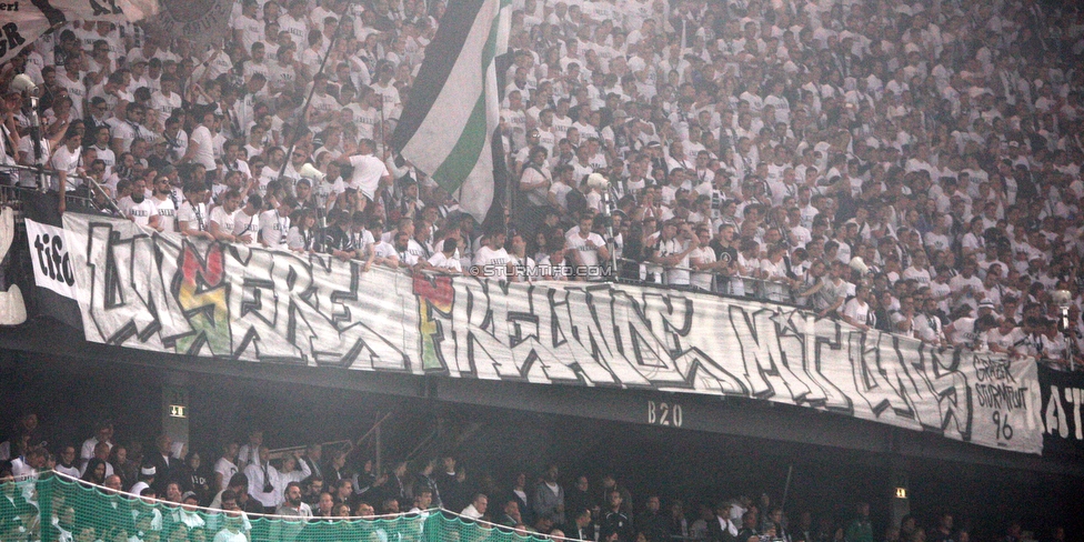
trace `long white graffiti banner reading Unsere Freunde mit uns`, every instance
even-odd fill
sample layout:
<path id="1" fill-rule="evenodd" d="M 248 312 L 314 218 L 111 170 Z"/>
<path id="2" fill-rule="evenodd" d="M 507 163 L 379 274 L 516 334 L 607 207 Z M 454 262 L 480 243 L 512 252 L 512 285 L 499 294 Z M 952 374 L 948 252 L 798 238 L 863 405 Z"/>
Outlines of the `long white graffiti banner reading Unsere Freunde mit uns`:
<path id="1" fill-rule="evenodd" d="M 87 340 L 254 362 L 736 395 L 1041 453 L 1033 360 L 651 288 L 409 277 L 64 214 Z M 153 234 L 152 234 L 153 233 Z"/>

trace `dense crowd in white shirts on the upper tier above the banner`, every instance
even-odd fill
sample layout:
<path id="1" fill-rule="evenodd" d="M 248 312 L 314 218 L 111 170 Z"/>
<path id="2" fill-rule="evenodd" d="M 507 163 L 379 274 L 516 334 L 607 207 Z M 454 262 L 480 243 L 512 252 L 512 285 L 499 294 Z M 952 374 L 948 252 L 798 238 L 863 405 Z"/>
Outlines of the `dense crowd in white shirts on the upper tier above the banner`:
<path id="1" fill-rule="evenodd" d="M 440 1 L 243 0 L 209 46 L 71 22 L 0 69 L 0 90 L 24 74 L 40 94 L 31 111 L 3 92 L 0 164 L 48 165 L 53 190 L 160 232 L 367 269 L 610 275 L 1084 361 L 1077 4 L 513 9 L 503 228 L 388 143 Z"/>

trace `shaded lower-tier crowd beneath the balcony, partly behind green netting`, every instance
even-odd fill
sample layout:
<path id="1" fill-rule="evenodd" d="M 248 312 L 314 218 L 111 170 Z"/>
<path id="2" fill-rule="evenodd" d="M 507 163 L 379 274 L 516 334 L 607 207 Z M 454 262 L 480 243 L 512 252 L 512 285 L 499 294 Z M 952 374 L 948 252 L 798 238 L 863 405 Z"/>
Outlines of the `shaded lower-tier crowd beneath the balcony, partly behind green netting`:
<path id="1" fill-rule="evenodd" d="M 944 513 L 935 524 L 904 516 L 874 533 L 870 506 L 861 502 L 853 515 L 790 510 L 789 516 L 767 494 L 697 501 L 633 495 L 620 483 L 621 473 L 608 472 L 601 480 L 565 476 L 556 464 L 536 475 L 518 472 L 500 483 L 484 471 L 469 476 L 452 453 L 392 461 L 381 470 L 349 442 L 328 449 L 311 444 L 271 459 L 261 431 L 252 431 L 244 443 L 225 443 L 215 458 L 201 456 L 167 435 L 145 449 L 140 440 L 122 444 L 109 420 L 99 422 L 82 443 L 49 446 L 44 440 L 37 415 L 28 413 L 0 444 L 4 541 L 456 540 L 452 533 L 421 536 L 435 529 L 423 525 L 435 509 L 521 535 L 593 542 L 968 542 L 972 531 L 967 521 L 954 525 L 952 514 Z M 87 499 L 89 493 L 53 492 L 51 520 L 34 523 L 41 502 L 33 481 L 53 472 L 107 494 L 123 492 L 124 498 L 102 504 Z M 8 483 L 17 480 L 21 484 Z M 259 522 L 261 514 L 308 526 Z M 339 520 L 378 518 L 392 521 L 379 529 L 328 529 Z M 1035 540 L 1018 522 L 1004 524 L 1006 534 L 991 541 Z M 1042 542 L 1066 540 L 1057 526 L 1038 535 Z"/>

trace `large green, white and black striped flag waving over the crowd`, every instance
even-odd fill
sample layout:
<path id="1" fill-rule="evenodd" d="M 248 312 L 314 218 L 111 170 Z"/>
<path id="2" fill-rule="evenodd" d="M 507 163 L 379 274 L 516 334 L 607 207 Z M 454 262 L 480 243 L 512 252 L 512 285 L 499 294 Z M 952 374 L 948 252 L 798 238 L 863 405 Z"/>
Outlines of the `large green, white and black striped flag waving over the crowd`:
<path id="1" fill-rule="evenodd" d="M 508 50 L 510 23 L 511 0 L 449 2 L 392 137 L 403 159 L 479 222 L 493 202 L 501 114 L 494 60 Z"/>

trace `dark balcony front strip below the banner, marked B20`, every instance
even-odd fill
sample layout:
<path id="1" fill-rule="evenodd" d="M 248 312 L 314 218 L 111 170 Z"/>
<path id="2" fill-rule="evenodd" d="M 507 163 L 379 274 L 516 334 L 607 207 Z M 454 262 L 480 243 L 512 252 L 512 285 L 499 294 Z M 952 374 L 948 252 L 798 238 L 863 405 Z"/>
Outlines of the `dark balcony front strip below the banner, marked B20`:
<path id="1" fill-rule="evenodd" d="M 646 390 L 619 390 L 491 382 L 441 377 L 394 375 L 335 368 L 309 368 L 163 355 L 88 343 L 50 331 L 60 325 L 24 324 L 0 330 L 0 349 L 32 359 L 68 358 L 79 364 L 121 363 L 162 371 L 222 375 L 268 382 L 352 390 L 384 397 L 421 398 L 448 403 L 628 422 L 739 438 L 765 436 L 781 442 L 817 445 L 906 458 L 955 461 L 1022 471 L 1084 478 L 1075 459 L 1004 452 L 842 415 L 765 401 L 720 399 Z"/>

